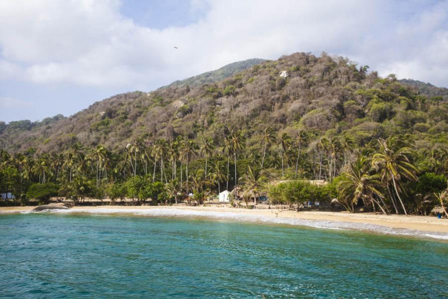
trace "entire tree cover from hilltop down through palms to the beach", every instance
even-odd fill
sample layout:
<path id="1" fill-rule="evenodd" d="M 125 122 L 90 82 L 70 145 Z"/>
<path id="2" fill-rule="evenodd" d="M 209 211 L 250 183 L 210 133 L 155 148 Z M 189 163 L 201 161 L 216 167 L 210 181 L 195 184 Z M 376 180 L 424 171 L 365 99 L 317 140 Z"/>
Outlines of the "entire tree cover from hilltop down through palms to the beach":
<path id="1" fill-rule="evenodd" d="M 325 53 L 207 80 L 117 95 L 69 118 L 2 124 L 1 193 L 23 204 L 55 193 L 201 204 L 235 189 L 253 204 L 267 192 L 271 204 L 297 209 L 446 208 L 444 90 L 425 94 Z"/>

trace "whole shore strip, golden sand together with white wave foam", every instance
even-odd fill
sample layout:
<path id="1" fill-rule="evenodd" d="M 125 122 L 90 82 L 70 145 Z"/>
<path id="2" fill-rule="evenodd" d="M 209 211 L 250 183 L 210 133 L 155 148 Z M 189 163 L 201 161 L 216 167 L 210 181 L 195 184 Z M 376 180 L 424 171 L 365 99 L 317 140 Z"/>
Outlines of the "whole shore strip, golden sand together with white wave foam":
<path id="1" fill-rule="evenodd" d="M 0 207 L 0 215 L 27 213 L 34 206 Z M 420 235 L 448 240 L 448 220 L 430 216 L 379 215 L 325 211 L 292 211 L 195 206 L 75 206 L 54 213 L 118 214 L 135 216 L 205 217 L 248 222 L 302 225 L 327 229 L 351 229 L 393 235 Z"/>

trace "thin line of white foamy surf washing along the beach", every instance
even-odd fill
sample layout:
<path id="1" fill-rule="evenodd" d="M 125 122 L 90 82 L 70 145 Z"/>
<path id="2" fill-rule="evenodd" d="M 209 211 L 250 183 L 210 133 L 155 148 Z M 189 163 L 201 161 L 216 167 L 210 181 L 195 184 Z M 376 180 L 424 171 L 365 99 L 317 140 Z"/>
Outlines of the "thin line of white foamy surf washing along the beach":
<path id="1" fill-rule="evenodd" d="M 370 231 L 380 234 L 402 235 L 402 236 L 418 236 L 429 237 L 434 239 L 448 240 L 448 233 L 428 232 L 406 228 L 391 228 L 378 224 L 368 224 L 348 221 L 334 220 L 311 220 L 291 217 L 268 217 L 262 215 L 251 215 L 249 213 L 234 212 L 218 212 L 218 211 L 200 211 L 176 208 L 152 208 L 152 209 L 111 209 L 111 208 L 94 208 L 94 209 L 70 209 L 70 210 L 49 210 L 51 213 L 71 214 L 71 213 L 89 213 L 89 214 L 133 214 L 136 216 L 168 216 L 168 217 L 207 217 L 213 219 L 225 219 L 245 222 L 262 222 L 300 225 L 314 228 L 334 229 L 334 230 L 360 230 Z"/>

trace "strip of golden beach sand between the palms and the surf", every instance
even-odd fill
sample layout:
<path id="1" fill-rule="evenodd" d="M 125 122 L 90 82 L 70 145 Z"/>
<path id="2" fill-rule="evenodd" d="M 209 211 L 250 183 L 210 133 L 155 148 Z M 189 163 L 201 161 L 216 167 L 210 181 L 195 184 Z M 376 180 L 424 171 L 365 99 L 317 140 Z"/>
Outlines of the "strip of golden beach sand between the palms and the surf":
<path id="1" fill-rule="evenodd" d="M 0 214 L 31 211 L 33 206 L 0 207 Z M 430 216 L 378 215 L 374 213 L 341 213 L 324 211 L 292 211 L 271 209 L 243 209 L 230 207 L 192 206 L 75 206 L 70 213 L 176 215 L 231 218 L 236 220 L 265 219 L 271 222 L 288 223 L 294 220 L 328 221 L 351 224 L 383 226 L 391 229 L 418 230 L 422 232 L 448 233 L 448 219 Z M 356 229 L 360 226 L 354 226 Z"/>

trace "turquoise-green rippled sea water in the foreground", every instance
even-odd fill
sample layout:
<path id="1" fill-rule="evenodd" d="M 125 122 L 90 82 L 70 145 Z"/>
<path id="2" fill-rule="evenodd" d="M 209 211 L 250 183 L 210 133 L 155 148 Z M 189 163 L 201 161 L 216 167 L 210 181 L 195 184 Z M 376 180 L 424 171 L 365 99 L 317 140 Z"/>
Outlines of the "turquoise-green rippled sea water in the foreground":
<path id="1" fill-rule="evenodd" d="M 4 298 L 448 298 L 448 243 L 194 217 L 0 215 Z"/>

